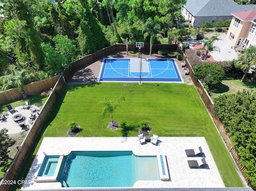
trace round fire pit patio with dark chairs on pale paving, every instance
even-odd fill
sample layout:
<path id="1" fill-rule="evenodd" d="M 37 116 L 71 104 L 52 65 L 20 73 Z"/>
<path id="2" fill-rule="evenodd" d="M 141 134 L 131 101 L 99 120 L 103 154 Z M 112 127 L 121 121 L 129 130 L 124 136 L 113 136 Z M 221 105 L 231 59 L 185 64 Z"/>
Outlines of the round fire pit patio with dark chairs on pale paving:
<path id="1" fill-rule="evenodd" d="M 8 129 L 7 134 L 16 134 L 24 130 L 30 130 L 36 120 L 40 109 L 25 101 L 24 105 L 16 106 L 12 108 L 11 105 L 7 105 L 7 111 L 2 112 L 0 115 L 0 130 L 3 128 Z M 32 108 L 32 110 L 30 110 Z"/>

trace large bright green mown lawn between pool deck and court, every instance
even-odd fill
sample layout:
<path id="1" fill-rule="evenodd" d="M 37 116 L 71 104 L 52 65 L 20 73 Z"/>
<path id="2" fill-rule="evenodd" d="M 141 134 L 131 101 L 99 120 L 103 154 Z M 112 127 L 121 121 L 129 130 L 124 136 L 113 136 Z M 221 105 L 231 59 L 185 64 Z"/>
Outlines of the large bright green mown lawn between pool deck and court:
<path id="1" fill-rule="evenodd" d="M 125 129 L 106 128 L 110 115 L 101 115 L 98 102 L 123 95 L 126 100 L 113 112 L 114 120 L 126 122 Z M 46 120 L 19 179 L 24 179 L 43 137 L 66 136 L 67 124 L 81 126 L 78 136 L 137 136 L 138 123 L 146 122 L 159 136 L 203 136 L 210 147 L 226 187 L 243 187 L 230 154 L 226 150 L 196 88 L 191 85 L 159 83 L 97 83 L 66 86 Z M 34 151 L 34 152 L 33 152 Z"/>

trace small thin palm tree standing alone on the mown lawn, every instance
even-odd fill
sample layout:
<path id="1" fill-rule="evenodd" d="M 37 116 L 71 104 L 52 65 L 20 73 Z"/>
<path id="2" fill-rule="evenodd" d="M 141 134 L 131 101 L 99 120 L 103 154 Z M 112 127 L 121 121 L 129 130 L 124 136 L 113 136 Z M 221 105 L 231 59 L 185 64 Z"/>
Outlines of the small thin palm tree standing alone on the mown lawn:
<path id="1" fill-rule="evenodd" d="M 120 95 L 120 96 L 116 96 L 116 99 L 114 100 L 107 100 L 106 98 L 104 98 L 104 100 L 99 102 L 99 104 L 103 104 L 102 115 L 104 115 L 106 112 L 110 113 L 112 124 L 113 124 L 112 112 L 114 112 L 114 110 L 122 100 L 125 100 L 125 98 L 124 96 Z"/>

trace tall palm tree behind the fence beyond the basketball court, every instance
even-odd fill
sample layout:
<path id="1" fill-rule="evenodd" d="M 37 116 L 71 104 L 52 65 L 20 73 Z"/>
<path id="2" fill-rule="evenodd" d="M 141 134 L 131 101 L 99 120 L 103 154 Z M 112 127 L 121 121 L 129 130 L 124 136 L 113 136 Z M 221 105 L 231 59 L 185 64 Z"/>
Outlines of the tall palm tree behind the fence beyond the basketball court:
<path id="1" fill-rule="evenodd" d="M 157 33 L 161 30 L 160 24 L 156 24 L 152 18 L 148 18 L 147 22 L 145 23 L 144 30 L 144 39 L 150 36 L 150 51 L 149 55 L 152 54 L 152 46 L 154 44 L 154 39 L 156 38 Z"/>

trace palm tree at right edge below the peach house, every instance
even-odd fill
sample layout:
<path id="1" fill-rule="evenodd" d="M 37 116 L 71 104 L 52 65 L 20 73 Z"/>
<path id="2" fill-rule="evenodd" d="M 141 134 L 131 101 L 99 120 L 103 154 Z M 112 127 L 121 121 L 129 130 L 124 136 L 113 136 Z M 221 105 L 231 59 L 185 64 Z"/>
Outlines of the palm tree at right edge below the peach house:
<path id="1" fill-rule="evenodd" d="M 238 59 L 235 61 L 235 67 L 240 68 L 244 71 L 244 76 L 242 77 L 242 82 L 244 81 L 246 74 L 248 73 L 251 66 L 256 65 L 256 47 L 250 46 L 244 49 L 238 55 Z M 256 75 L 254 75 L 253 81 L 255 81 Z"/>

